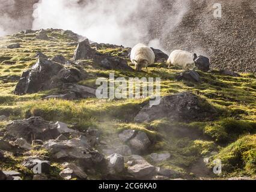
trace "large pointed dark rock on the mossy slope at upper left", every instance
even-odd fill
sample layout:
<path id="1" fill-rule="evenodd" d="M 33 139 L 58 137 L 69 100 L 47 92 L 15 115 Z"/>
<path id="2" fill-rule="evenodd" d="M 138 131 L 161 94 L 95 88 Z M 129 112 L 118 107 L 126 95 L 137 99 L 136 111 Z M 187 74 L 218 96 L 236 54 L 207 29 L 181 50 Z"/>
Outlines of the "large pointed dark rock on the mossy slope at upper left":
<path id="1" fill-rule="evenodd" d="M 79 68 L 65 68 L 56 62 L 39 58 L 28 71 L 23 72 L 16 85 L 17 95 L 32 94 L 38 91 L 58 88 L 64 83 L 79 82 L 86 77 L 85 71 Z"/>

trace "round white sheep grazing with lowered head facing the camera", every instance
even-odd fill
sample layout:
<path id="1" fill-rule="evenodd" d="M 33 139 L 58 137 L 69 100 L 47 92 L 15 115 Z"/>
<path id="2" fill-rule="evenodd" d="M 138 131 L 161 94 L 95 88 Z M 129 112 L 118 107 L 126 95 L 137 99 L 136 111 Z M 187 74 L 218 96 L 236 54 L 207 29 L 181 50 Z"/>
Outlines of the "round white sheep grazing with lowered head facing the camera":
<path id="1" fill-rule="evenodd" d="M 136 44 L 130 53 L 130 61 L 135 65 L 137 71 L 141 71 L 144 67 L 148 71 L 148 65 L 154 64 L 154 58 L 153 50 L 142 43 Z"/>

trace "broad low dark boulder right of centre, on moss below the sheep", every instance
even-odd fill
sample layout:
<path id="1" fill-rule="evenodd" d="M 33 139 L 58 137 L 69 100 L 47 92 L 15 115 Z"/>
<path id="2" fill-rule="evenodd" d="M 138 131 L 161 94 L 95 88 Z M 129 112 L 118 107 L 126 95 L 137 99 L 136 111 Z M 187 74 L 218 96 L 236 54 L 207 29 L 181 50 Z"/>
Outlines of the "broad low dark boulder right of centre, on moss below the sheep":
<path id="1" fill-rule="evenodd" d="M 151 122 L 167 118 L 170 121 L 204 121 L 213 119 L 216 109 L 203 98 L 190 92 L 162 97 L 157 106 L 146 105 L 135 117 L 136 122 Z"/>

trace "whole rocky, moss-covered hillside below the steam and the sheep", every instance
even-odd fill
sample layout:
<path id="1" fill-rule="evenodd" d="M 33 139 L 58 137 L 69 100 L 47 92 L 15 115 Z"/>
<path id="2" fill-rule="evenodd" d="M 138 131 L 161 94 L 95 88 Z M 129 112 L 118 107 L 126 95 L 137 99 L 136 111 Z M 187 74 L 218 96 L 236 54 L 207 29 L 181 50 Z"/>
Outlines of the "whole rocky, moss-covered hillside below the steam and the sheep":
<path id="1" fill-rule="evenodd" d="M 83 42 L 88 58 L 79 59 L 77 51 L 73 61 L 78 37 L 70 31 L 0 38 L 2 170 L 22 179 L 255 178 L 255 74 L 223 74 L 213 64 L 207 73 L 197 70 L 200 82 L 177 81 L 182 71 L 165 62 L 156 62 L 148 74 L 136 72 L 129 48 Z M 111 72 L 161 77 L 162 103 L 150 109 L 149 98 L 94 98 L 96 79 Z M 222 161 L 220 175 L 212 172 L 216 159 Z M 44 161 L 43 175 L 32 172 L 35 160 Z"/>

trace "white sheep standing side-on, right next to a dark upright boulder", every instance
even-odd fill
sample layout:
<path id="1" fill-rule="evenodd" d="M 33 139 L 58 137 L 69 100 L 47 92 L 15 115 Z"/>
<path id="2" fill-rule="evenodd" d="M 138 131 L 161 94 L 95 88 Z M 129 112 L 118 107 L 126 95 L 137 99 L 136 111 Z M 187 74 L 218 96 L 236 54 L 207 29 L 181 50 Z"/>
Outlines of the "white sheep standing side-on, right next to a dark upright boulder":
<path id="1" fill-rule="evenodd" d="M 184 50 L 174 50 L 167 60 L 168 68 L 170 65 L 182 67 L 183 70 L 193 70 L 195 68 L 197 54 L 189 53 Z"/>

